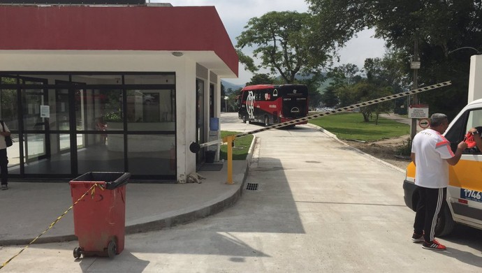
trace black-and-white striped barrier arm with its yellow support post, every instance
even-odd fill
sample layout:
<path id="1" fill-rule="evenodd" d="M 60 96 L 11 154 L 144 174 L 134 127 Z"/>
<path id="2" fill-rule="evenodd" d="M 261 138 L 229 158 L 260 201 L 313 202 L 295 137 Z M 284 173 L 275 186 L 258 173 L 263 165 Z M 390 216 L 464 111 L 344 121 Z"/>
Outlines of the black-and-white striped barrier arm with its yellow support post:
<path id="1" fill-rule="evenodd" d="M 440 82 L 440 83 L 437 83 L 437 84 L 429 85 L 427 87 L 421 87 L 421 88 L 418 88 L 418 89 L 413 89 L 413 90 L 404 91 L 404 92 L 401 92 L 401 93 L 398 93 L 398 94 L 393 94 L 393 95 L 390 95 L 390 96 L 384 96 L 384 97 L 381 97 L 381 98 L 376 98 L 372 101 L 365 101 L 363 103 L 356 103 L 356 104 L 345 106 L 345 107 L 342 107 L 342 108 L 337 108 L 335 110 L 331 110 L 331 111 L 328 111 L 328 112 L 321 112 L 319 114 L 309 115 L 307 117 L 302 117 L 300 119 L 293 119 L 291 121 L 286 121 L 286 122 L 283 122 L 283 123 L 280 123 L 280 124 L 270 125 L 270 126 L 267 126 L 267 127 L 264 127 L 264 128 L 259 128 L 259 129 L 254 130 L 254 131 L 249 131 L 249 132 L 246 132 L 246 133 L 240 133 L 238 135 L 228 135 L 228 136 L 224 137 L 222 140 L 213 140 L 213 141 L 205 142 L 205 143 L 202 143 L 202 144 L 192 142 L 191 145 L 189 146 L 189 149 L 191 150 L 191 152 L 197 153 L 197 152 L 199 152 L 200 148 L 207 147 L 207 146 L 210 146 L 210 145 L 215 145 L 215 144 L 218 144 L 218 143 L 228 142 L 228 181 L 226 182 L 226 184 L 234 184 L 233 183 L 233 158 L 232 158 L 233 147 L 232 147 L 232 145 L 233 145 L 233 141 L 236 138 L 242 138 L 242 137 L 245 137 L 247 135 L 252 135 L 254 133 L 260 133 L 260 132 L 268 131 L 268 130 L 275 129 L 275 128 L 282 128 L 284 126 L 295 125 L 295 124 L 298 124 L 302 121 L 309 121 L 311 119 L 317 119 L 319 117 L 333 115 L 333 114 L 336 114 L 336 113 L 339 113 L 339 112 L 346 112 L 346 111 L 353 110 L 355 108 L 365 107 L 365 106 L 377 104 L 377 103 L 383 103 L 385 101 L 391 101 L 391 100 L 394 100 L 395 98 L 402 98 L 404 96 L 410 96 L 410 95 L 418 94 L 418 93 L 421 93 L 421 92 L 424 92 L 424 91 L 429 91 L 429 90 L 437 89 L 437 88 L 440 88 L 440 87 L 446 87 L 446 86 L 451 85 L 451 84 L 452 84 L 451 81 Z"/>

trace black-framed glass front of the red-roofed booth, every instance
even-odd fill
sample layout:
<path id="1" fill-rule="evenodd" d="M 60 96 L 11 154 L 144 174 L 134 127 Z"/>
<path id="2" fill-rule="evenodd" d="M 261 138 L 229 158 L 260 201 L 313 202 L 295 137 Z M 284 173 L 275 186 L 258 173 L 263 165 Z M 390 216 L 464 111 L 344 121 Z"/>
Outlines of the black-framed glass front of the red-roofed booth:
<path id="1" fill-rule="evenodd" d="M 175 73 L 0 73 L 10 177 L 176 179 Z"/>

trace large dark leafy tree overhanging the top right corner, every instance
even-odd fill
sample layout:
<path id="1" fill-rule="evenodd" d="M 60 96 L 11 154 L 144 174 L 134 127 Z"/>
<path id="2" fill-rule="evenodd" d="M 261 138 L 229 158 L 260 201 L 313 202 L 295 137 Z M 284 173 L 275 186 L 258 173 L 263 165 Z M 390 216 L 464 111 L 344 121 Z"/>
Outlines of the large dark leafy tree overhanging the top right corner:
<path id="1" fill-rule="evenodd" d="M 418 43 L 420 85 L 452 81 L 451 87 L 420 94 L 432 112 L 453 117 L 467 101 L 469 56 L 482 50 L 482 3 L 473 0 L 308 0 L 323 26 L 320 35 L 332 34 L 342 46 L 358 31 L 374 28 L 390 49 L 400 53 L 405 75 L 411 75 L 410 57 Z M 316 46 L 316 45 L 313 45 Z M 453 52 L 453 53 L 451 53 Z"/>

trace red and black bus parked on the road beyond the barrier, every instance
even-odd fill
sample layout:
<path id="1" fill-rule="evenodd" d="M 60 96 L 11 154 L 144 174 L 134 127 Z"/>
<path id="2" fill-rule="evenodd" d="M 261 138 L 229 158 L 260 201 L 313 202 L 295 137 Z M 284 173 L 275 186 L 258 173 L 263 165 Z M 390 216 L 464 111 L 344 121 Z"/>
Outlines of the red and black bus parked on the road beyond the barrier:
<path id="1" fill-rule="evenodd" d="M 304 84 L 250 85 L 241 90 L 238 103 L 243 122 L 279 124 L 308 115 L 308 88 Z"/>

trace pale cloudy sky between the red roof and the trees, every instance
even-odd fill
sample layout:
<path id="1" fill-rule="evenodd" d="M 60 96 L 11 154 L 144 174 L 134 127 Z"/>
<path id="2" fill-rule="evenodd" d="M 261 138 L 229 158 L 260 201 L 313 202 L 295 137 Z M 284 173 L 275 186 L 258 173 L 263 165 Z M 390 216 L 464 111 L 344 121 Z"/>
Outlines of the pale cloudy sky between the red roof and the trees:
<path id="1" fill-rule="evenodd" d="M 149 0 L 147 0 L 148 2 Z M 152 3 L 171 3 L 173 6 L 214 6 L 219 17 L 228 32 L 233 45 L 236 45 L 236 37 L 240 36 L 249 19 L 261 17 L 270 11 L 308 11 L 308 4 L 304 0 L 151 0 Z M 382 57 L 385 52 L 384 41 L 372 38 L 374 31 L 367 29 L 358 33 L 345 47 L 339 50 L 341 64 L 356 64 L 363 67 L 367 58 Z M 249 54 L 245 52 L 244 54 Z M 244 71 L 240 64 L 238 79 L 224 79 L 233 84 L 245 84 L 249 82 L 252 73 Z"/>

